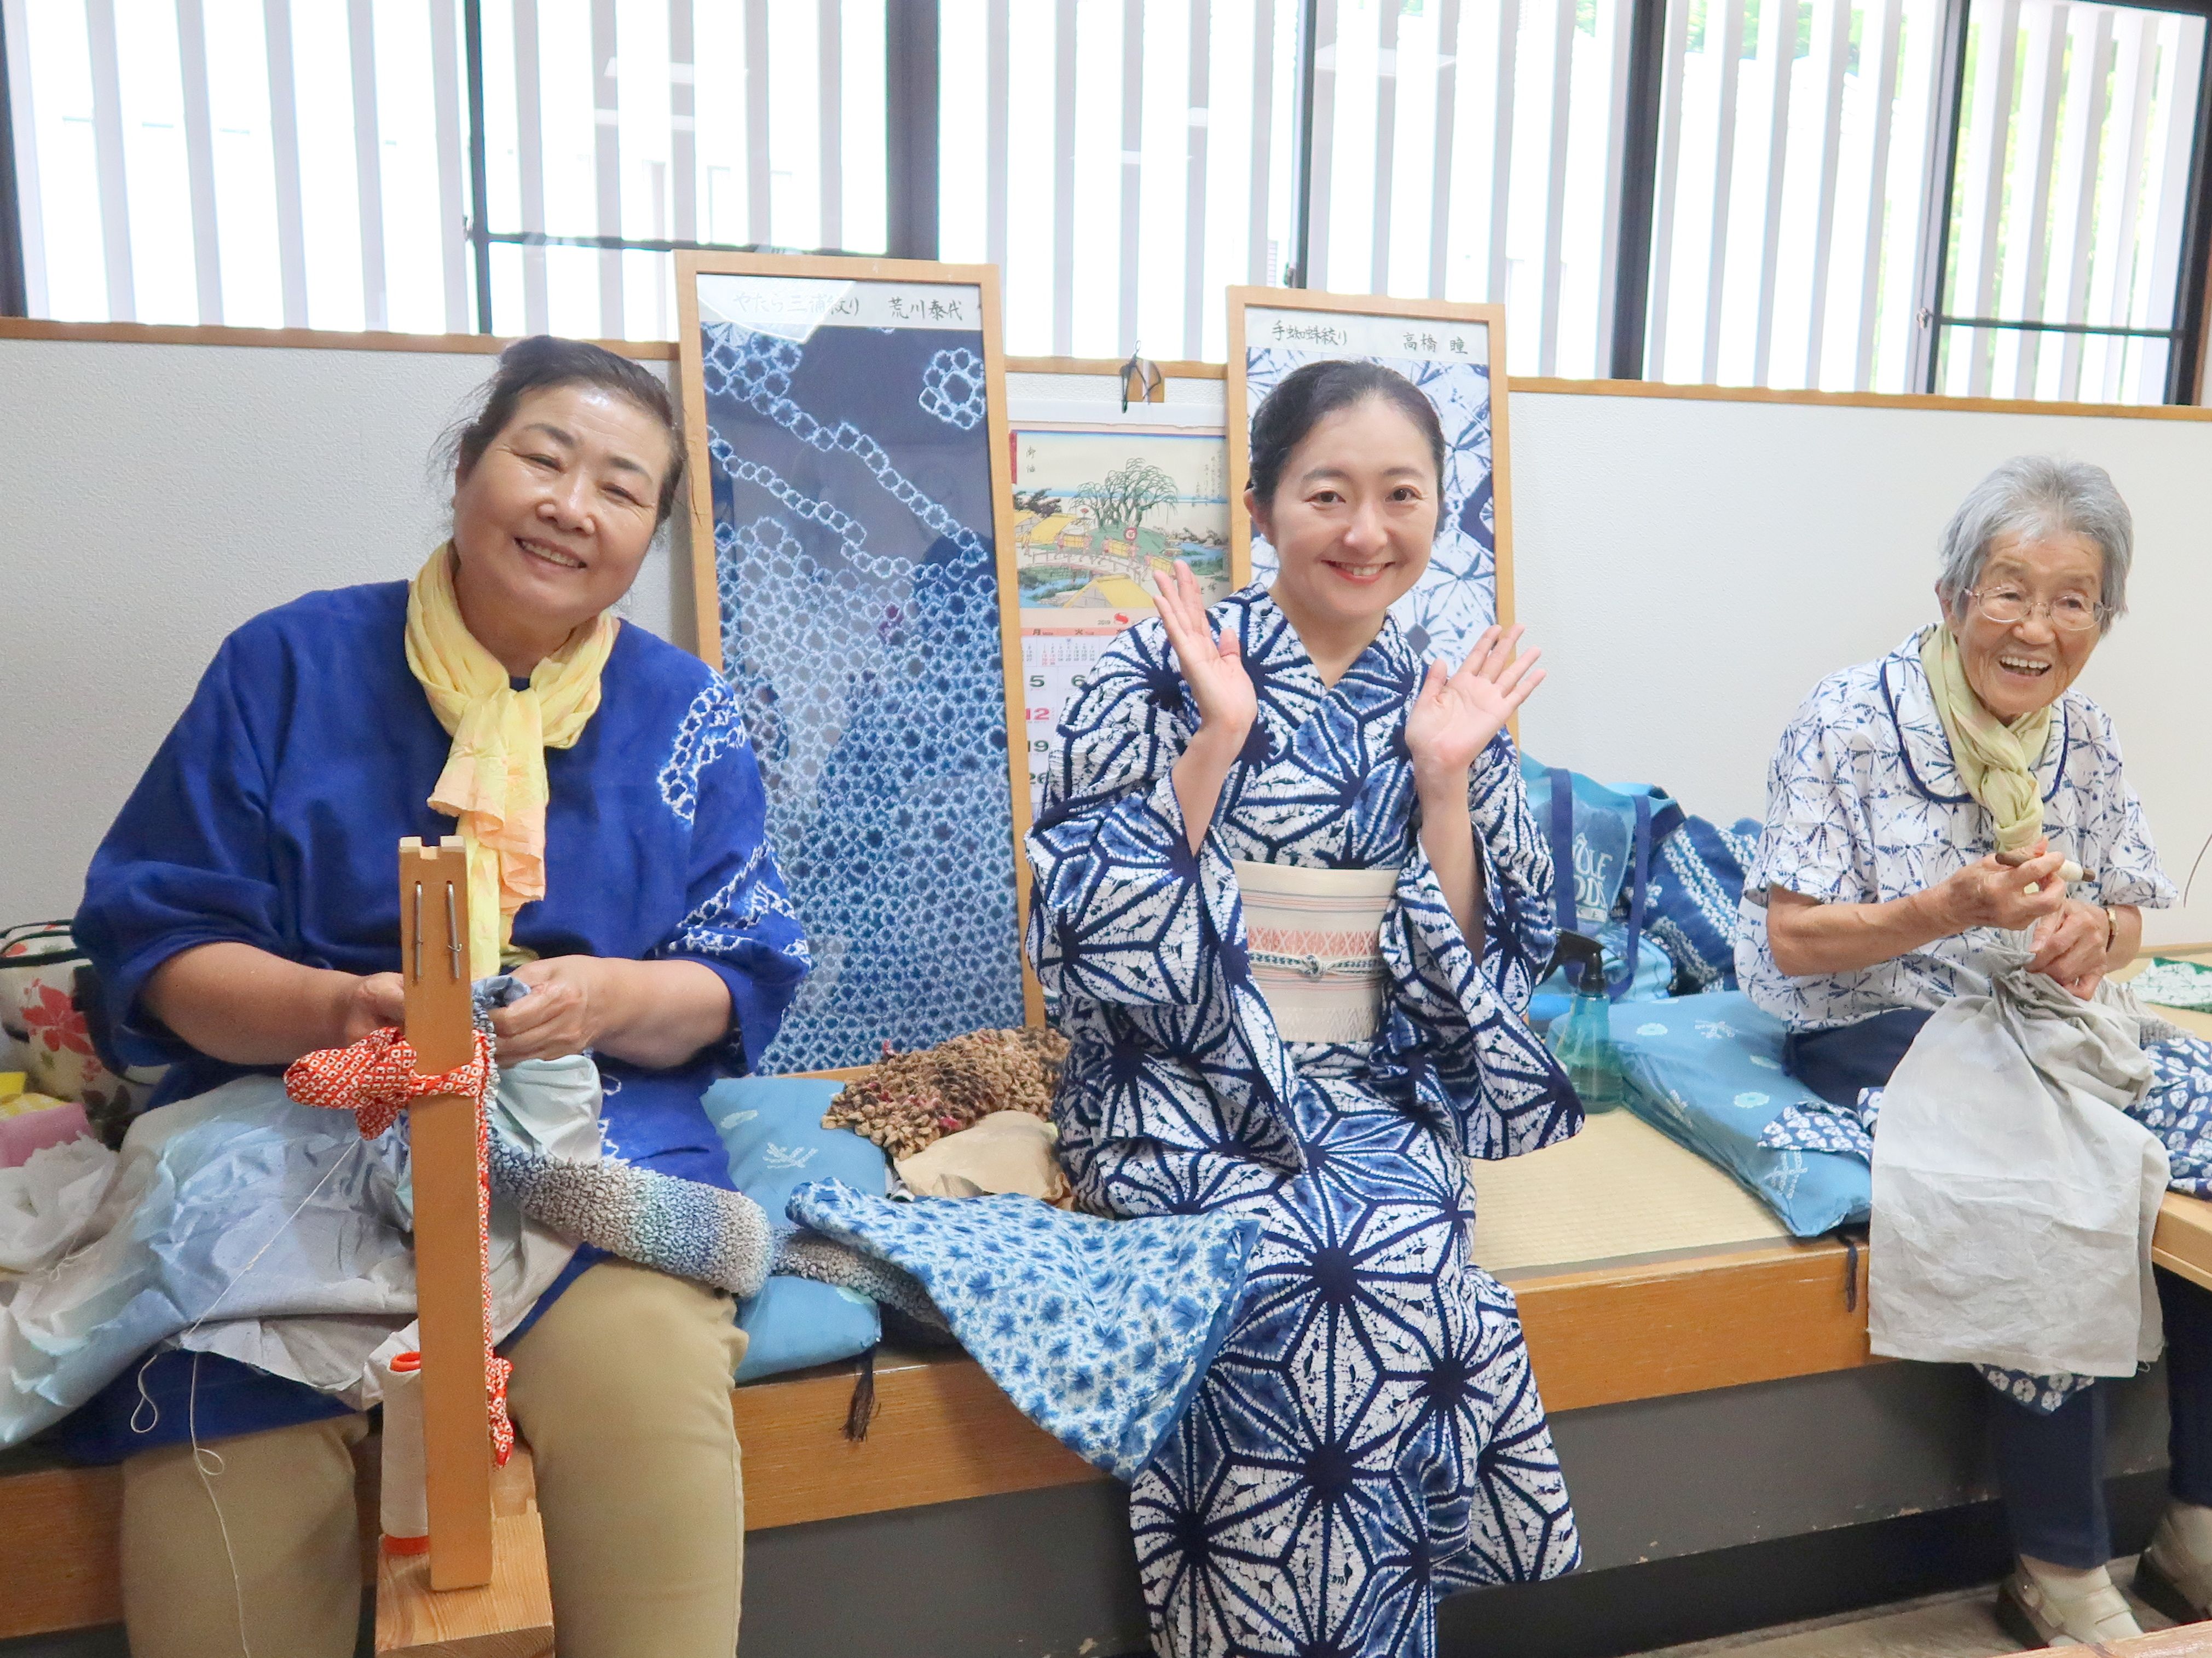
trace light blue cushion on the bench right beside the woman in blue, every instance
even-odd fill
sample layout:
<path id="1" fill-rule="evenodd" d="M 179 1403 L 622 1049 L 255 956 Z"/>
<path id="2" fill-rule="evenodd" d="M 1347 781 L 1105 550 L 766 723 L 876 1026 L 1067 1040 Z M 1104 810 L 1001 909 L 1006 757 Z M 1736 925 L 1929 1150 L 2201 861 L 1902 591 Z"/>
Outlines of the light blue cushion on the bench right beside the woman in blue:
<path id="1" fill-rule="evenodd" d="M 843 1180 L 874 1198 L 891 1189 L 883 1147 L 852 1129 L 825 1129 L 823 1111 L 843 1089 L 812 1076 L 739 1076 L 706 1091 L 706 1113 L 730 1153 L 730 1184 L 783 1222 L 792 1193 L 810 1180 Z M 867 1353 L 883 1339 L 883 1313 L 865 1295 L 774 1275 L 737 1304 L 752 1339 L 739 1381 Z"/>

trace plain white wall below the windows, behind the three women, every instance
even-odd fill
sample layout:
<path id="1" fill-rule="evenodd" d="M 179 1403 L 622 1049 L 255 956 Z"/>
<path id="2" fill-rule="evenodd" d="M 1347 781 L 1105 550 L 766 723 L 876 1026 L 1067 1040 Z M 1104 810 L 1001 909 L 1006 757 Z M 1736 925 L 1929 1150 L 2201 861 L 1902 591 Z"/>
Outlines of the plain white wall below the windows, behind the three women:
<path id="1" fill-rule="evenodd" d="M 442 533 L 427 454 L 489 367 L 0 341 L 0 919 L 75 908 L 228 629 L 416 569 Z M 1068 418 L 1108 390 L 1015 376 L 1011 412 Z M 1150 418 L 1219 421 L 1219 383 L 1170 392 Z M 1933 613 L 1936 536 L 1993 463 L 2059 449 L 2110 467 L 2137 514 L 2132 613 L 2084 686 L 2119 719 L 2177 881 L 2212 835 L 2194 673 L 2212 421 L 1515 392 L 1511 434 L 1517 613 L 1551 666 L 1526 746 L 1708 817 L 1759 815 L 1812 682 Z M 679 527 L 630 620 L 688 642 L 688 569 Z M 2150 936 L 2212 939 L 2212 870 L 2194 897 Z"/>

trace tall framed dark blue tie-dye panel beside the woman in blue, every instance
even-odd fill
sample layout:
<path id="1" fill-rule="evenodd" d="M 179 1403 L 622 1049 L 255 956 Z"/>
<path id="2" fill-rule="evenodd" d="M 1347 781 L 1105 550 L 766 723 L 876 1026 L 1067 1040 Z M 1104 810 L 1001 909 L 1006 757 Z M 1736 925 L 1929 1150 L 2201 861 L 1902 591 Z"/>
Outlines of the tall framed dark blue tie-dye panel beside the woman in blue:
<path id="1" fill-rule="evenodd" d="M 998 272 L 677 255 L 699 655 L 814 952 L 763 1071 L 1042 1018 Z"/>

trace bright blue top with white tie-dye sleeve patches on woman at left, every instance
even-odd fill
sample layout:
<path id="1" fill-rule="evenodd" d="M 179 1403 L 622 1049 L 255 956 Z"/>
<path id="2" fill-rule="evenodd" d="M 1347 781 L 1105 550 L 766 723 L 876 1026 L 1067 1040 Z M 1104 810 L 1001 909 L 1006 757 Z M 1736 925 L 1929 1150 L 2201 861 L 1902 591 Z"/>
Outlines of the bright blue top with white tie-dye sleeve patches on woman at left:
<path id="1" fill-rule="evenodd" d="M 451 739 L 407 669 L 407 584 L 310 593 L 223 640 L 93 857 L 77 939 L 155 1102 L 239 1074 L 139 1005 L 170 956 L 215 941 L 352 974 L 394 972 L 398 841 L 453 832 L 429 808 Z M 712 669 L 624 626 L 599 711 L 546 750 L 546 897 L 515 916 L 538 956 L 684 958 L 730 987 L 723 1043 L 670 1071 L 602 1060 L 608 1147 L 728 1189 L 699 1096 L 774 1036 L 807 947 L 765 839 L 761 773 Z"/>

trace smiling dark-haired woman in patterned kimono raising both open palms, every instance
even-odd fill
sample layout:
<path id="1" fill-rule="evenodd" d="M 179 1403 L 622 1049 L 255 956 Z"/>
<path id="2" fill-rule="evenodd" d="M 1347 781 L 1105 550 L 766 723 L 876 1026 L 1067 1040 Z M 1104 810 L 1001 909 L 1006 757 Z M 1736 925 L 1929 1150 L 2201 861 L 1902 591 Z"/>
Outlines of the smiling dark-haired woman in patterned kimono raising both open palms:
<path id="1" fill-rule="evenodd" d="M 1464 1158 L 1582 1107 L 1522 1020 L 1551 859 L 1504 735 L 1520 629 L 1453 673 L 1389 618 L 1442 432 L 1402 376 L 1290 374 L 1252 423 L 1274 584 L 1179 567 L 1060 728 L 1031 954 L 1073 1040 L 1084 1204 L 1261 1222 L 1237 1322 L 1130 1525 L 1164 1654 L 1429 1654 L 1447 1589 L 1579 1558 Z"/>

